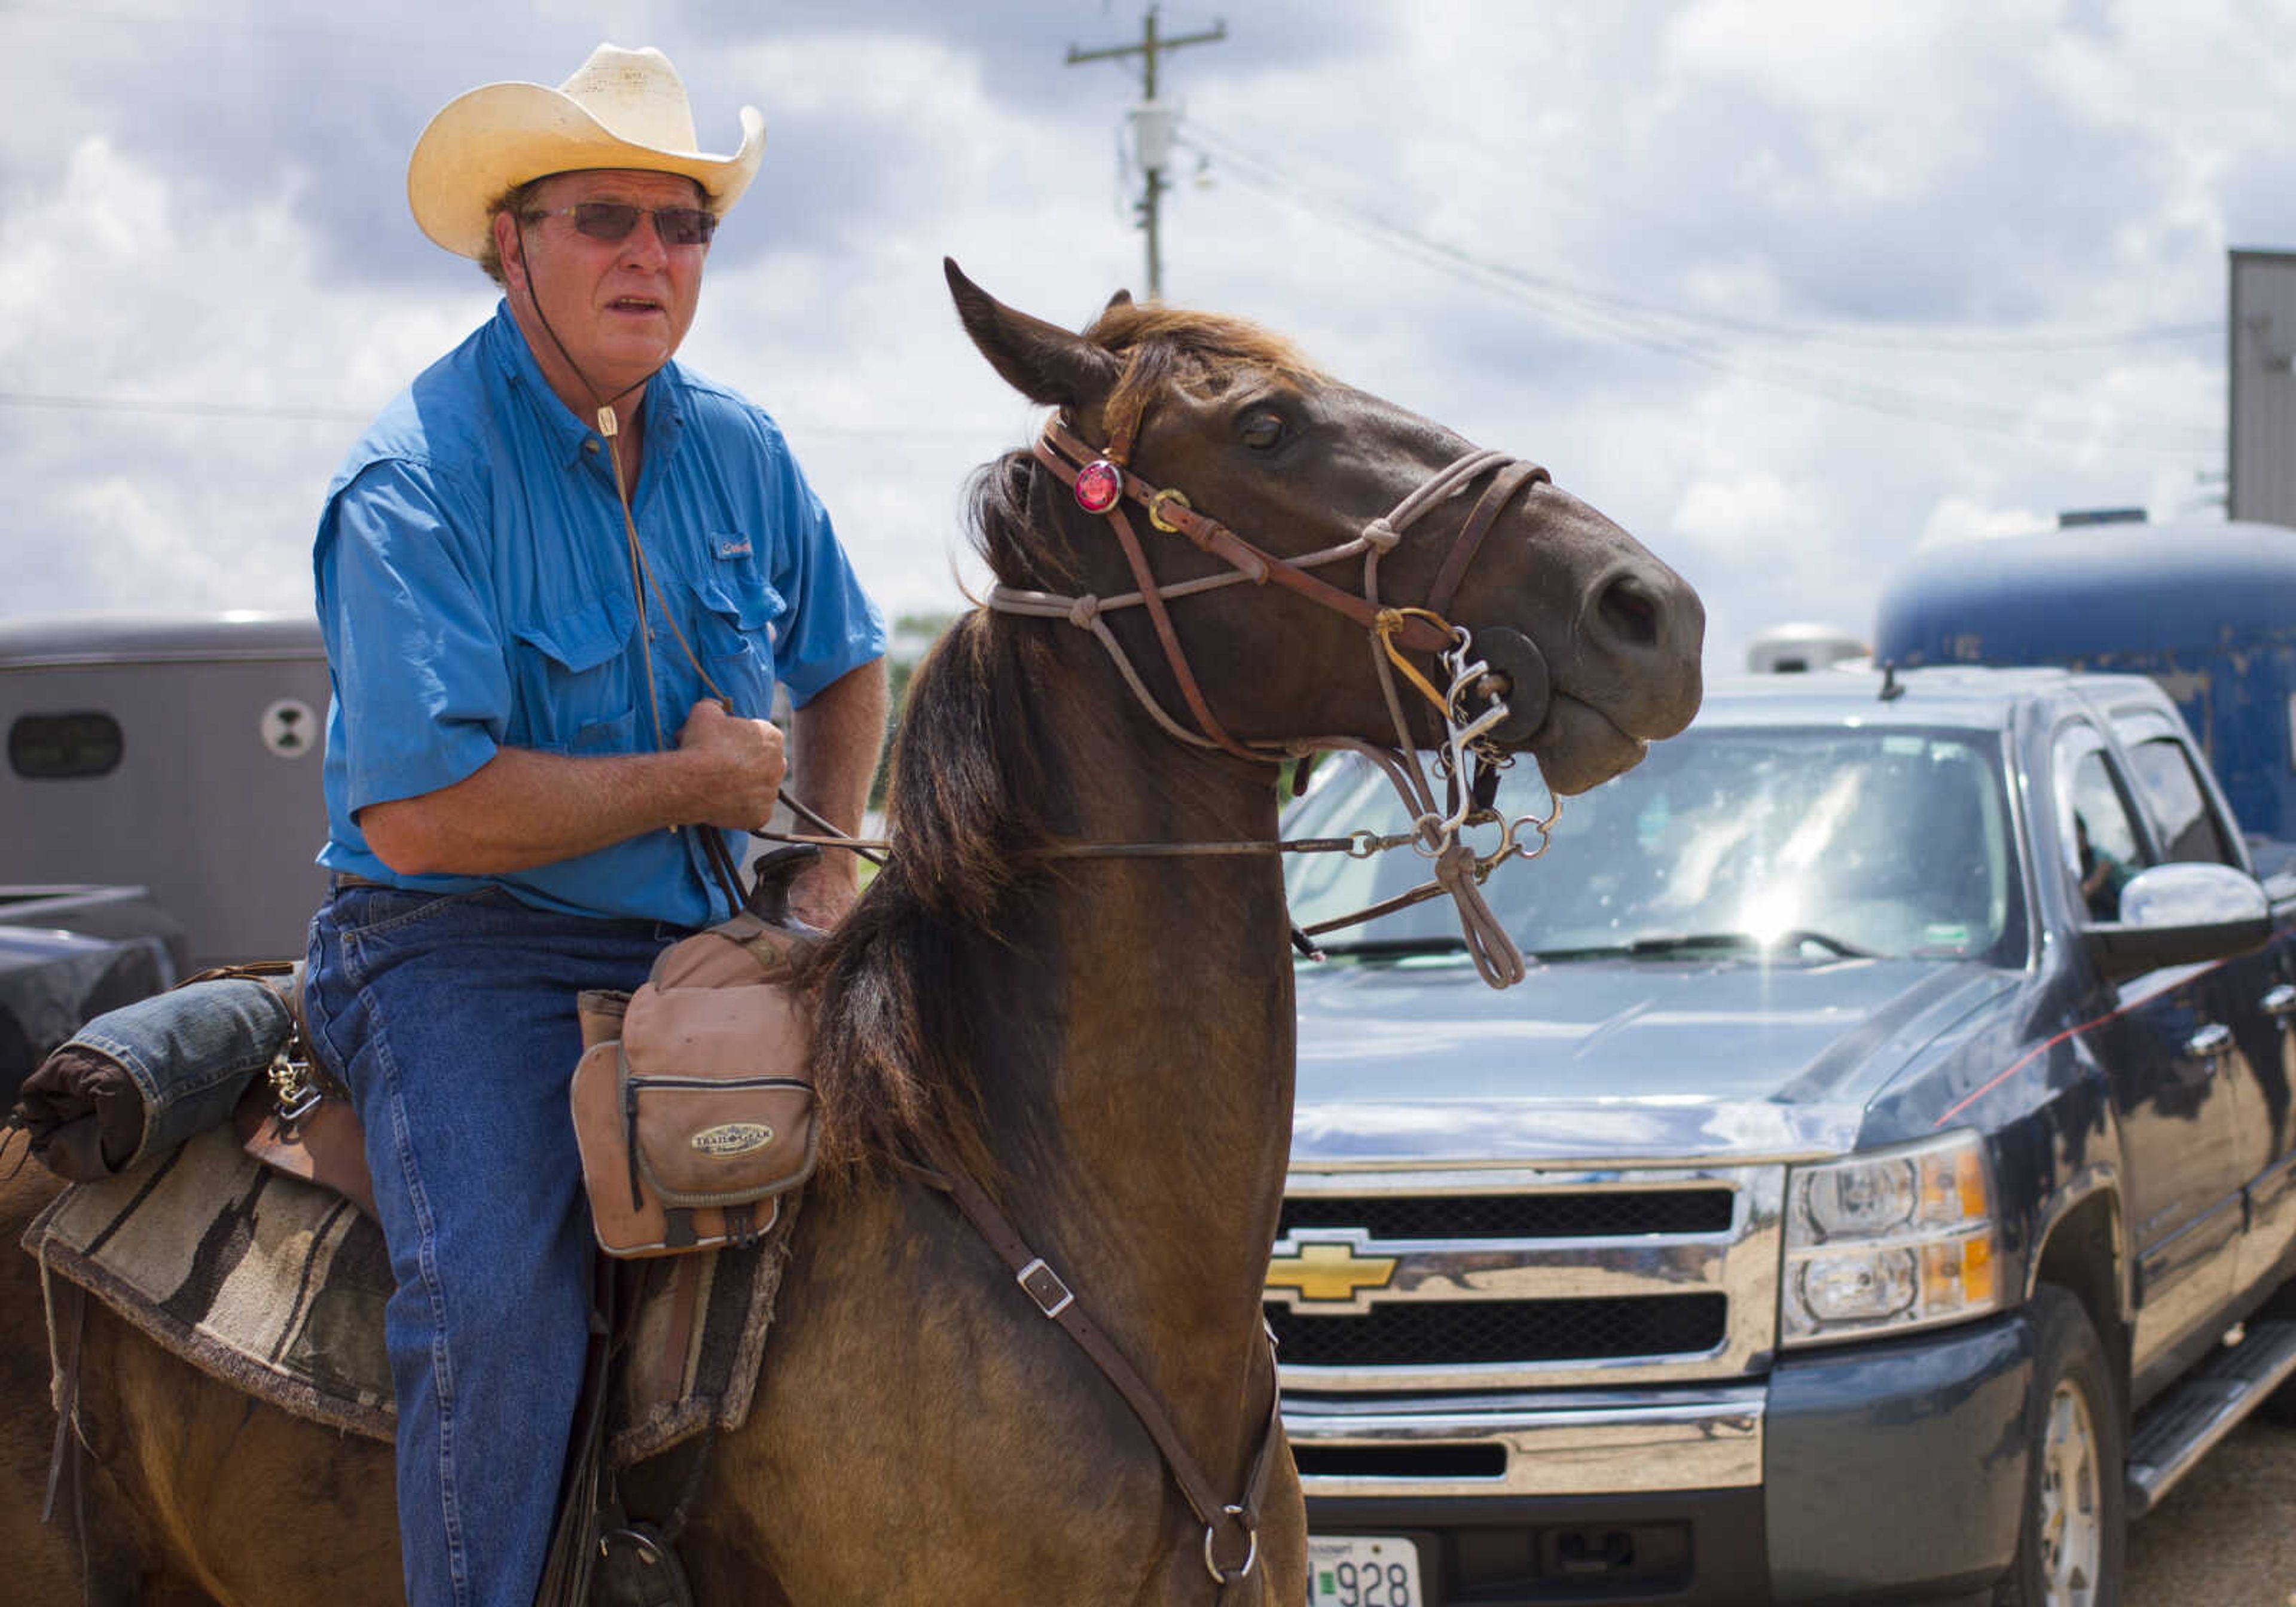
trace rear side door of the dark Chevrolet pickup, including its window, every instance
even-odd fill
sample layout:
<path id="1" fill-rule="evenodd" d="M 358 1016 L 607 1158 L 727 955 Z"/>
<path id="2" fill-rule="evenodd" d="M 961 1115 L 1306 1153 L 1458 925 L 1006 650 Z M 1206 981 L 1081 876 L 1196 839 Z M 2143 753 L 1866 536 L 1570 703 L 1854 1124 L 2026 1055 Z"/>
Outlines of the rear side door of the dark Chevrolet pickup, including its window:
<path id="1" fill-rule="evenodd" d="M 2206 771 L 2161 714 L 2115 721 L 2138 799 L 2151 817 L 2163 861 L 2204 861 L 2248 870 L 2239 838 L 2209 797 Z M 2234 1113 L 2232 1166 L 2248 1194 L 2236 1288 L 2250 1288 L 2296 1242 L 2296 1123 L 2289 1061 L 2296 1056 L 2296 955 L 2282 925 L 2271 948 L 2236 955 L 2193 983 L 2193 999 L 2218 1054 L 2218 1081 Z"/>

